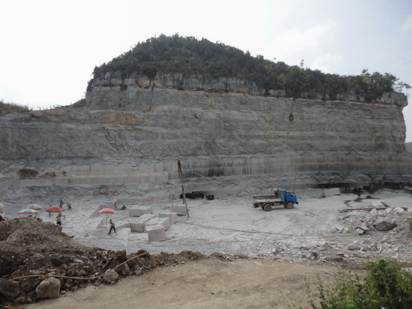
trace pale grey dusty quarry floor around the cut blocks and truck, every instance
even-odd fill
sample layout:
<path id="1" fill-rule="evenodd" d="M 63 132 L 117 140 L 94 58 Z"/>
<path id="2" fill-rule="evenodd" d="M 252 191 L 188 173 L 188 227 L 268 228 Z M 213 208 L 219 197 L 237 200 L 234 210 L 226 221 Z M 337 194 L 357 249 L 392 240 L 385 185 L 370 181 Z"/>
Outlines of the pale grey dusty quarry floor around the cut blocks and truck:
<path id="1" fill-rule="evenodd" d="M 374 201 L 382 201 L 389 207 L 407 207 L 412 211 L 412 195 L 404 190 L 383 189 L 374 194 L 339 194 L 322 197 L 323 190 L 297 192 L 299 205 L 293 209 L 279 207 L 271 211 L 253 208 L 253 196 L 216 196 L 215 200 L 188 200 L 189 216 L 178 216 L 178 220 L 166 231 L 166 241 L 148 242 L 147 233 L 130 233 L 117 229 L 108 235 L 108 220 L 119 223 L 128 218 L 128 211 L 117 214 L 94 214 L 104 203 L 114 203 L 112 196 L 73 196 L 65 198 L 73 209 L 63 212 L 62 231 L 88 247 L 99 247 L 113 251 L 126 250 L 128 254 L 146 250 L 151 254 L 165 251 L 199 251 L 206 255 L 226 253 L 246 255 L 252 258 L 271 258 L 287 262 L 321 262 L 345 260 L 363 262 L 382 256 L 399 262 L 412 262 L 411 234 L 403 231 L 404 222 L 390 231 L 368 231 L 365 235 L 356 232 L 356 219 L 366 216 L 367 211 L 352 211 L 351 220 L 341 220 L 348 214 L 339 209 L 371 207 Z M 38 203 L 43 201 L 26 201 Z M 21 202 L 23 203 L 23 202 Z M 21 203 L 19 203 L 21 205 Z M 172 205 L 182 200 L 164 203 L 149 203 L 154 214 L 170 211 Z M 6 207 L 8 218 L 25 206 Z M 136 206 L 136 205 L 135 205 Z M 132 207 L 132 205 L 126 205 Z M 407 216 L 411 216 L 407 212 Z M 56 214 L 38 213 L 44 222 L 56 222 Z M 396 216 L 395 216 L 396 217 Z M 403 216 L 406 217 L 406 216 Z M 103 223 L 100 227 L 99 224 Z M 352 225 L 350 224 L 352 223 Z M 375 249 L 349 250 L 354 242 L 374 242 Z M 377 249 L 376 249 L 377 247 Z M 320 261 L 319 261 L 320 260 Z"/>

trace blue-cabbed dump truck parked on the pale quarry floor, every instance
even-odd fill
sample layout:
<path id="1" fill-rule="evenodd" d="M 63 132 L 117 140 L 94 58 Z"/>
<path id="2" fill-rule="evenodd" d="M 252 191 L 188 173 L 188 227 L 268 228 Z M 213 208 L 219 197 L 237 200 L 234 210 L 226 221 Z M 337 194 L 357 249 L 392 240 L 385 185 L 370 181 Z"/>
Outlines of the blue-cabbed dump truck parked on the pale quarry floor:
<path id="1" fill-rule="evenodd" d="M 299 204 L 295 192 L 285 190 L 277 190 L 275 191 L 275 195 L 254 196 L 253 199 L 253 207 L 261 207 L 265 211 L 269 211 L 272 207 L 276 206 L 293 208 L 295 204 Z"/>

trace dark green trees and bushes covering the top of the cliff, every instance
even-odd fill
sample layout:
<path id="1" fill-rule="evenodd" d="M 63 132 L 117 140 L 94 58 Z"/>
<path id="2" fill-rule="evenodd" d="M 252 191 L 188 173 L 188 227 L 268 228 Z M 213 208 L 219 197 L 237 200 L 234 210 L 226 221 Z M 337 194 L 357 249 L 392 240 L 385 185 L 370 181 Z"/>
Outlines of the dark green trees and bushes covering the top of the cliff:
<path id="1" fill-rule="evenodd" d="M 399 82 L 390 73 L 369 73 L 367 69 L 356 76 L 339 76 L 319 70 L 287 65 L 282 61 L 266 60 L 252 56 L 250 52 L 212 43 L 205 38 L 160 35 L 138 43 L 130 51 L 95 67 L 93 78 L 101 78 L 107 72 L 120 71 L 125 78 L 138 73 L 154 78 L 158 71 L 210 75 L 213 78 L 238 78 L 255 82 L 269 93 L 269 89 L 284 91 L 287 97 L 308 98 L 326 95 L 335 100 L 337 95 L 350 93 L 365 100 L 376 100 L 387 91 L 402 91 L 410 86 Z M 93 80 L 89 82 L 90 85 Z"/>

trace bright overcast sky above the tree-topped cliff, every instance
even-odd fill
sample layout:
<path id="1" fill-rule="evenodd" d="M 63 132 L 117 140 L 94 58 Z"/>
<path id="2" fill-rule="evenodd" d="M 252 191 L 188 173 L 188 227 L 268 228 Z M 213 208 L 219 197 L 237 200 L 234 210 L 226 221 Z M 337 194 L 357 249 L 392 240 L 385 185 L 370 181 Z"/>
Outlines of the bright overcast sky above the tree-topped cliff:
<path id="1" fill-rule="evenodd" d="M 289 65 L 304 59 L 326 73 L 388 72 L 412 85 L 412 0 L 0 0 L 0 99 L 74 103 L 96 65 L 175 33 Z M 412 141 L 412 106 L 404 117 Z"/>

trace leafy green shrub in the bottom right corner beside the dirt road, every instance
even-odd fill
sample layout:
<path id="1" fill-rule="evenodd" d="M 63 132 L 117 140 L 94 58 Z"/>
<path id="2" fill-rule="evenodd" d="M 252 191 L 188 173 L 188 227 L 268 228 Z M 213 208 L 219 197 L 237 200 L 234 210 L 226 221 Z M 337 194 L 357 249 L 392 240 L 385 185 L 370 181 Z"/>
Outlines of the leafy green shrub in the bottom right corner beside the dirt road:
<path id="1" fill-rule="evenodd" d="M 319 284 L 318 290 L 317 301 L 310 301 L 312 308 L 412 308 L 412 275 L 402 271 L 398 264 L 385 260 L 367 264 L 365 277 L 341 272 L 333 288 L 326 290 Z"/>

